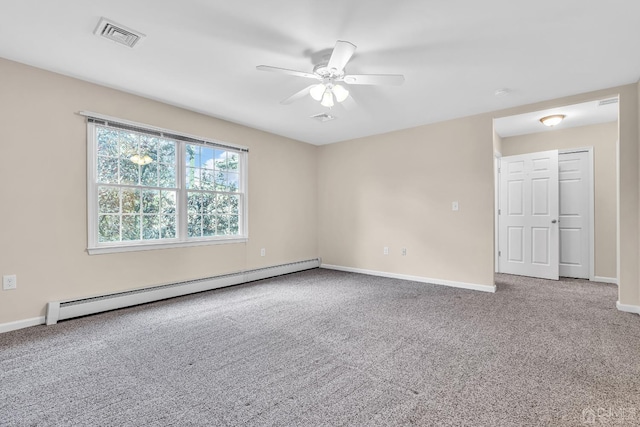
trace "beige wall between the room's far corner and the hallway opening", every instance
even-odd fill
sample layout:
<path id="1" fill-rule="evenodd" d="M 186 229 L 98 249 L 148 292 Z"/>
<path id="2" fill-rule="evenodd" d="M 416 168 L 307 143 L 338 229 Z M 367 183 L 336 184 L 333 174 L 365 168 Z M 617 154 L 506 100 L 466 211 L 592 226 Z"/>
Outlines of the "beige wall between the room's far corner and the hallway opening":
<path id="1" fill-rule="evenodd" d="M 492 132 L 482 115 L 320 147 L 323 263 L 493 286 Z"/>

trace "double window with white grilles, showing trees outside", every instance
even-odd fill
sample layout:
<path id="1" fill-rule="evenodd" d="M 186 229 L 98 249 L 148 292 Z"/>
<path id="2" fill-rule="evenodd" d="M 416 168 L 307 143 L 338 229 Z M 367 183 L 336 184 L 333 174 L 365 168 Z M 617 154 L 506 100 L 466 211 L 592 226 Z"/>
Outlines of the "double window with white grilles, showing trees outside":
<path id="1" fill-rule="evenodd" d="M 89 253 L 246 241 L 246 149 L 83 115 Z"/>

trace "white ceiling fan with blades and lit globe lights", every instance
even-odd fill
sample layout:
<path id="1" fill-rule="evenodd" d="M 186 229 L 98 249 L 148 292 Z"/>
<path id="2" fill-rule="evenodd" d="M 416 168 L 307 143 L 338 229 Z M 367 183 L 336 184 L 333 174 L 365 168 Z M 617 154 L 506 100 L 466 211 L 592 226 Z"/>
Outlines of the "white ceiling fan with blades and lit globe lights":
<path id="1" fill-rule="evenodd" d="M 335 105 L 335 101 L 343 102 L 349 97 L 349 91 L 340 83 L 347 85 L 394 86 L 404 83 L 402 74 L 346 74 L 344 67 L 355 51 L 356 45 L 353 43 L 338 40 L 328 61 L 316 65 L 311 73 L 268 65 L 258 65 L 256 68 L 261 71 L 272 71 L 319 81 L 319 83 L 307 86 L 290 97 L 283 99 L 280 101 L 281 104 L 291 104 L 310 94 L 313 99 L 320 101 L 322 106 L 331 108 Z"/>

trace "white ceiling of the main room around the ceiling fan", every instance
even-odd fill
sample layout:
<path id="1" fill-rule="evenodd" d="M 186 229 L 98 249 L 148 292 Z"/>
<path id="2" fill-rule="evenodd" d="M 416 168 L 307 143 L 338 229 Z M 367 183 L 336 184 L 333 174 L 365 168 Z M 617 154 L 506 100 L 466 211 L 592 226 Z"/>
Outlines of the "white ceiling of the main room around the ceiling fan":
<path id="1" fill-rule="evenodd" d="M 146 34 L 133 49 L 93 35 L 100 17 Z M 0 57 L 312 144 L 389 132 L 640 78 L 640 2 L 609 0 L 0 0 Z M 358 107 L 327 112 L 309 81 L 256 70 L 313 69 L 347 40 Z M 510 94 L 497 97 L 495 91 Z"/>

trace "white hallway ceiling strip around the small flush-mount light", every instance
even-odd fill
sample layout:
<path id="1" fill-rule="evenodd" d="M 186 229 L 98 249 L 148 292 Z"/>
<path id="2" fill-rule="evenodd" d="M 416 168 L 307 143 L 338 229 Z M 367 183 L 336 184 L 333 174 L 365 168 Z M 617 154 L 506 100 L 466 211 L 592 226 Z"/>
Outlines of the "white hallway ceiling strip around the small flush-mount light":
<path id="1" fill-rule="evenodd" d="M 552 127 L 540 123 L 541 118 L 555 114 L 564 115 L 564 120 Z M 550 108 L 548 110 L 532 111 L 515 116 L 500 117 L 493 121 L 493 128 L 498 135 L 506 138 L 509 136 L 551 132 L 553 130 L 578 126 L 615 122 L 616 120 L 618 120 L 618 99 L 614 97 Z"/>

